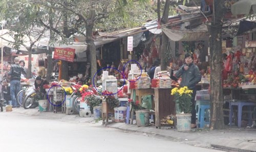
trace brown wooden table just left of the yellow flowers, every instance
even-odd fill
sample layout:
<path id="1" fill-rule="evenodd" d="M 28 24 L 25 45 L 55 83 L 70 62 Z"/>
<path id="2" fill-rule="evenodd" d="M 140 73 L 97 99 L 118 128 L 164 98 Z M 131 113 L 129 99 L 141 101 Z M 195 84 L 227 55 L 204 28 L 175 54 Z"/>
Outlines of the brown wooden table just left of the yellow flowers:
<path id="1" fill-rule="evenodd" d="M 175 101 L 170 95 L 172 88 L 154 88 L 156 128 L 161 128 L 161 118 L 176 115 Z"/>

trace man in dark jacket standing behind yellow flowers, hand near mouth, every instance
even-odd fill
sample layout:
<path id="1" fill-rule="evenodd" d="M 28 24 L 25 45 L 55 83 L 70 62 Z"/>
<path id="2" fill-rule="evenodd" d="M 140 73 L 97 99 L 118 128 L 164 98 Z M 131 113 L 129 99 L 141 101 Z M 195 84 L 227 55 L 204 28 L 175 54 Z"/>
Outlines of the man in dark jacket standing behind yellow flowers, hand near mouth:
<path id="1" fill-rule="evenodd" d="M 201 81 L 201 73 L 198 67 L 193 64 L 194 57 L 190 53 L 185 54 L 185 62 L 179 71 L 176 72 L 175 76 L 179 78 L 181 76 L 180 86 L 187 86 L 189 90 L 193 90 L 192 94 L 192 111 L 191 111 L 191 128 L 195 128 L 196 125 L 196 110 L 195 110 L 195 96 L 197 93 L 196 84 Z"/>

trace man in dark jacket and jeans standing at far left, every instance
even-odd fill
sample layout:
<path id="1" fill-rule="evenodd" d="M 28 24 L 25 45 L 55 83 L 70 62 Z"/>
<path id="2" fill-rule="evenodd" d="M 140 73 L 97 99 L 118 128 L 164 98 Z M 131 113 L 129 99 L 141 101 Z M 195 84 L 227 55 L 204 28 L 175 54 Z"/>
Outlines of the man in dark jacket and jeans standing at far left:
<path id="1" fill-rule="evenodd" d="M 15 64 L 12 64 L 11 70 L 8 73 L 9 76 L 11 76 L 11 98 L 12 98 L 12 107 L 19 107 L 16 101 L 16 96 L 20 90 L 20 76 L 22 73 L 26 73 L 22 66 L 19 65 L 19 58 L 14 58 Z"/>

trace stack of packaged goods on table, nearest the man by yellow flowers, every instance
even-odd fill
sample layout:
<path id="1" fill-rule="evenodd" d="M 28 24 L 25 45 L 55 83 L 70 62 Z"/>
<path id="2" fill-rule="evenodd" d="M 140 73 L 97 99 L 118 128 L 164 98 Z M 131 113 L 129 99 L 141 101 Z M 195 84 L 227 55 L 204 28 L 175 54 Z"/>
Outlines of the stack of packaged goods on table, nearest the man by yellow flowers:
<path id="1" fill-rule="evenodd" d="M 156 79 L 152 80 L 152 88 L 172 88 L 172 79 L 167 71 L 157 73 Z"/>

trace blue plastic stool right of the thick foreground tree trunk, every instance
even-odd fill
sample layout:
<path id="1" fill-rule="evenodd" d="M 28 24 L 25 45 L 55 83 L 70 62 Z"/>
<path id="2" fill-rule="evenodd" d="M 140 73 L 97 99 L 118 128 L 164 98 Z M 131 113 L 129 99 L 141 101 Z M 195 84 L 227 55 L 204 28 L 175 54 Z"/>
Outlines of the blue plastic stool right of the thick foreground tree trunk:
<path id="1" fill-rule="evenodd" d="M 241 122 L 242 122 L 242 110 L 243 106 L 248 106 L 249 111 L 251 112 L 252 106 L 256 106 L 255 102 L 230 102 L 229 107 L 230 107 L 230 113 L 229 113 L 229 126 L 231 126 L 232 123 L 232 115 L 233 115 L 233 106 L 238 106 L 238 127 L 241 127 Z M 251 113 L 248 115 L 249 119 L 249 125 L 252 124 L 252 117 Z"/>

